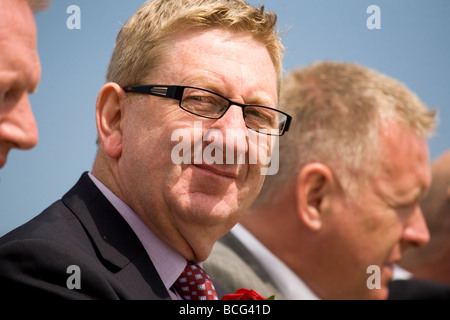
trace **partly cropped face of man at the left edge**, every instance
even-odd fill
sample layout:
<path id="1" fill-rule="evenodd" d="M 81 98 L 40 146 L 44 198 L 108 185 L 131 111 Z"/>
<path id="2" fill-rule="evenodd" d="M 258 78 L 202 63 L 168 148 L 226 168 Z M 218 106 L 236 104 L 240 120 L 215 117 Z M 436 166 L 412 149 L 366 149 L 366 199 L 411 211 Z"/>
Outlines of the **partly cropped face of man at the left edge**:
<path id="1" fill-rule="evenodd" d="M 0 2 L 0 169 L 11 149 L 30 149 L 38 141 L 28 98 L 41 76 L 33 13 L 48 5 L 42 0 Z"/>

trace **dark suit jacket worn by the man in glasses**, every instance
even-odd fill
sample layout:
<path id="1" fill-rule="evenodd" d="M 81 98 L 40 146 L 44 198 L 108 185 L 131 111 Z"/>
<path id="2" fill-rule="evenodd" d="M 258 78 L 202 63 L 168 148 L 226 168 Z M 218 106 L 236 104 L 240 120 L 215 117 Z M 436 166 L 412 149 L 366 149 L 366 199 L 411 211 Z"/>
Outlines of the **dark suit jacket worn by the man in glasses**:
<path id="1" fill-rule="evenodd" d="M 71 265 L 79 267 L 80 289 L 67 288 Z M 141 242 L 87 172 L 0 238 L 0 288 L 0 299 L 170 299 Z"/>

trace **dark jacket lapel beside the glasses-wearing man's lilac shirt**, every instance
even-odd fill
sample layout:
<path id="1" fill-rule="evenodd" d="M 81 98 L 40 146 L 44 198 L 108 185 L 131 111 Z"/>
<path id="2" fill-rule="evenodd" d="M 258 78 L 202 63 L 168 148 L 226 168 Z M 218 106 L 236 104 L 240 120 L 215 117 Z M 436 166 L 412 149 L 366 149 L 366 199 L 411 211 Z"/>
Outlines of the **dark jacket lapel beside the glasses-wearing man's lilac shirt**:
<path id="1" fill-rule="evenodd" d="M 142 299 L 170 299 L 141 242 L 87 172 L 62 201 L 83 225 L 105 267 L 133 294 Z"/>

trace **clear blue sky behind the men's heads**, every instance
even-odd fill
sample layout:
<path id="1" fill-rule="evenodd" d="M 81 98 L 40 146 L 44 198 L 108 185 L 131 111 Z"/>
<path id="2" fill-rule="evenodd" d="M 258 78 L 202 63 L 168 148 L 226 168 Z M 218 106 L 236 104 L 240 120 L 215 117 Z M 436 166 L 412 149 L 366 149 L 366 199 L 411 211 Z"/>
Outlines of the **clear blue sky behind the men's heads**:
<path id="1" fill-rule="evenodd" d="M 285 31 L 284 69 L 318 60 L 358 62 L 405 83 L 440 124 L 430 139 L 431 160 L 450 148 L 450 1 L 254 0 L 278 14 Z M 95 102 L 115 37 L 143 0 L 53 0 L 36 15 L 42 64 L 31 103 L 39 143 L 12 151 L 0 170 L 0 235 L 60 199 L 91 169 L 96 153 Z M 67 20 L 80 8 L 81 29 Z M 367 8 L 381 10 L 381 29 L 370 30 Z"/>

